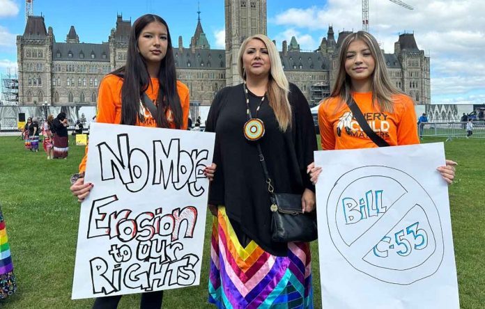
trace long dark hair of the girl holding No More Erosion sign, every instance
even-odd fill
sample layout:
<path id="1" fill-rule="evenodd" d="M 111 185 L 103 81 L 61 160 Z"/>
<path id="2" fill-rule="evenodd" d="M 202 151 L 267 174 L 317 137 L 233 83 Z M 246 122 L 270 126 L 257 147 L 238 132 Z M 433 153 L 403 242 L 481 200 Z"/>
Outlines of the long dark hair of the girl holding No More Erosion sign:
<path id="1" fill-rule="evenodd" d="M 125 66 L 114 70 L 111 74 L 123 78 L 121 86 L 121 124 L 135 125 L 139 117 L 139 102 L 143 93 L 151 84 L 150 75 L 146 69 L 146 62 L 138 52 L 138 38 L 141 31 L 151 22 L 160 22 L 167 28 L 167 54 L 160 62 L 158 83 L 160 88 L 157 95 L 157 114 L 153 115 L 157 127 L 169 127 L 169 120 L 165 112 L 169 110 L 175 122 L 175 127 L 180 129 L 182 125 L 182 107 L 177 93 L 177 79 L 175 70 L 174 53 L 169 26 L 162 17 L 146 14 L 134 21 L 130 31 L 130 42 L 126 55 Z M 143 120 L 143 119 L 141 119 Z"/>

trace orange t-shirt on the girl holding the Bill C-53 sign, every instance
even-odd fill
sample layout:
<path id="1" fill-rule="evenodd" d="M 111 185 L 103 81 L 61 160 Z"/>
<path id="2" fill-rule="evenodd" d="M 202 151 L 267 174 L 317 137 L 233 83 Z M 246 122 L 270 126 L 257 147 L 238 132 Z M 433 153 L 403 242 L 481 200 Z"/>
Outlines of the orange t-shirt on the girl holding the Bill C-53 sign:
<path id="1" fill-rule="evenodd" d="M 419 144 L 413 100 L 407 95 L 394 95 L 394 111 L 379 111 L 372 104 L 372 93 L 353 93 L 369 127 L 389 145 Z M 318 108 L 318 125 L 323 150 L 378 147 L 360 128 L 347 104 L 330 97 Z M 340 107 L 339 107 L 340 106 Z"/>

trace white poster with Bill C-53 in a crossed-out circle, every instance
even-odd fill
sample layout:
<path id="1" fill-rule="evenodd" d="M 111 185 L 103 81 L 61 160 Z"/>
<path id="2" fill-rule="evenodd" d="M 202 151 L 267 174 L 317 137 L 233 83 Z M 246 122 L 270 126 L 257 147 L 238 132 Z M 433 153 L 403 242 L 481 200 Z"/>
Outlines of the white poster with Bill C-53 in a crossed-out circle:
<path id="1" fill-rule="evenodd" d="M 459 308 L 442 143 L 315 152 L 323 308 Z"/>

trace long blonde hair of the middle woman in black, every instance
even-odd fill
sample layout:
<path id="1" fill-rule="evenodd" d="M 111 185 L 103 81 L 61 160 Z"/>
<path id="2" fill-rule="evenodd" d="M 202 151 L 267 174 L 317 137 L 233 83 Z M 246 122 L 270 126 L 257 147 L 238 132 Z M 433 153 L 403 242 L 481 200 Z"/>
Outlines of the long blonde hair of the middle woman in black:
<path id="1" fill-rule="evenodd" d="M 268 49 L 270 56 L 271 70 L 268 78 L 268 100 L 270 106 L 275 111 L 275 116 L 279 124 L 279 129 L 285 132 L 288 127 L 291 127 L 291 106 L 288 101 L 289 83 L 283 71 L 282 61 L 279 58 L 279 53 L 275 44 L 271 42 L 270 38 L 263 34 L 252 35 L 241 44 L 238 53 L 238 70 L 242 79 L 246 80 L 244 67 L 242 66 L 242 55 L 245 52 L 246 45 L 250 40 L 261 40 Z"/>

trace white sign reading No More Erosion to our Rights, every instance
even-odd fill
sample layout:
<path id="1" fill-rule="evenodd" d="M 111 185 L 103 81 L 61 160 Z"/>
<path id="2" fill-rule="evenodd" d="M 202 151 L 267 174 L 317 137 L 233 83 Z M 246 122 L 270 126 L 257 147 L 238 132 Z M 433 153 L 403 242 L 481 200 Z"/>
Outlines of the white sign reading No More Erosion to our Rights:
<path id="1" fill-rule="evenodd" d="M 72 299 L 199 285 L 214 140 L 91 124 Z"/>

